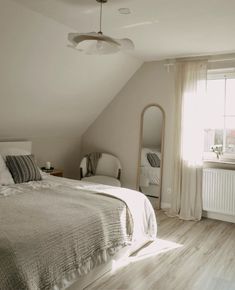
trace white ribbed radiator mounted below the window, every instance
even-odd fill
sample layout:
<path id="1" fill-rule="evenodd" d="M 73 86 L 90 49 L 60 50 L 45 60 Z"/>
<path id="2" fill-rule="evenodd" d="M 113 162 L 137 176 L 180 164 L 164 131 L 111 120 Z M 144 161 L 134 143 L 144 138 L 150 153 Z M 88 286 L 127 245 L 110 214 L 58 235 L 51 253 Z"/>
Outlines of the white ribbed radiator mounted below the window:
<path id="1" fill-rule="evenodd" d="M 203 210 L 235 215 L 235 170 L 203 169 Z"/>

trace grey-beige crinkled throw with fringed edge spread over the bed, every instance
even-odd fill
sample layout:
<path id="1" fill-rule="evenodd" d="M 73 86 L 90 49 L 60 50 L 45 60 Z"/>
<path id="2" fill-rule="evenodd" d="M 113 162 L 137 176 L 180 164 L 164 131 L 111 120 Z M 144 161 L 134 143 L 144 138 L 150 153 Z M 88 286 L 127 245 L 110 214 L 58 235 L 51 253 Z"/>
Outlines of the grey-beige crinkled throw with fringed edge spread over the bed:
<path id="1" fill-rule="evenodd" d="M 0 289 L 63 288 L 127 245 L 132 218 L 114 197 L 58 184 L 0 197 Z"/>

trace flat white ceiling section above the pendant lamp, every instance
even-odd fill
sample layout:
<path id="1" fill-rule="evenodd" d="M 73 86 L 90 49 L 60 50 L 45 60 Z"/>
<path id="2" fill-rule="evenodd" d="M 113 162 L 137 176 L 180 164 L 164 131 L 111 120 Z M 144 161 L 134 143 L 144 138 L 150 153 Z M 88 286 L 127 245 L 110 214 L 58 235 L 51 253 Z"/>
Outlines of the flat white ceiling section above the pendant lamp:
<path id="1" fill-rule="evenodd" d="M 71 30 L 97 31 L 95 0 L 15 0 Z M 128 7 L 129 15 L 118 9 Z M 132 53 L 144 61 L 235 52 L 235 1 L 109 0 L 104 5 L 103 31 L 131 38 Z"/>

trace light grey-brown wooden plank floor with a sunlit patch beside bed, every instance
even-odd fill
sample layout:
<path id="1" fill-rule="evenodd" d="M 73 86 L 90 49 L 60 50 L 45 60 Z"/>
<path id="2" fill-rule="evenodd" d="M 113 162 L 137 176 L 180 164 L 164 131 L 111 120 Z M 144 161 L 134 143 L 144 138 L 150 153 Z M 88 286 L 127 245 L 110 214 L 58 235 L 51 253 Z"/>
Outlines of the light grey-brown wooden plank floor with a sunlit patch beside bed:
<path id="1" fill-rule="evenodd" d="M 158 240 L 90 289 L 235 290 L 235 224 L 157 213 Z"/>

